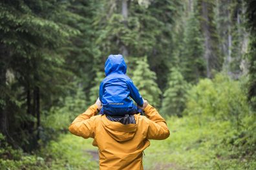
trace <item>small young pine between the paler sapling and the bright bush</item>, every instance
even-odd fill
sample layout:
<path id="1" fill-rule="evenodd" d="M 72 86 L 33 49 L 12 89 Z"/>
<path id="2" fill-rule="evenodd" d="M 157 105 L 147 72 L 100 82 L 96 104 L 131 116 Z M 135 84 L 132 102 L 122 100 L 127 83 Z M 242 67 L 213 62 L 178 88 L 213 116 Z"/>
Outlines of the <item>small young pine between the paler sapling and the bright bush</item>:
<path id="1" fill-rule="evenodd" d="M 177 68 L 172 68 L 167 89 L 164 92 L 161 113 L 182 117 L 186 105 L 186 94 L 189 85 Z"/>

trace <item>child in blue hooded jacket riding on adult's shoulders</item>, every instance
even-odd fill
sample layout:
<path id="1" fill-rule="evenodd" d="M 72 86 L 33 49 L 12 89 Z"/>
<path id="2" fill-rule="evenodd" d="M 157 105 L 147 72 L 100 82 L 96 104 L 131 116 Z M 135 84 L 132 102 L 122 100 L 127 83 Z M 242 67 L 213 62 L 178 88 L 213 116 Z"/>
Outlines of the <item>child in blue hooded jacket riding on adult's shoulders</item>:
<path id="1" fill-rule="evenodd" d="M 100 114 L 117 116 L 137 113 L 137 106 L 143 106 L 143 99 L 133 81 L 125 75 L 127 66 L 123 56 L 109 55 L 105 62 L 105 79 L 100 84 Z M 133 100 L 131 100 L 131 98 Z"/>

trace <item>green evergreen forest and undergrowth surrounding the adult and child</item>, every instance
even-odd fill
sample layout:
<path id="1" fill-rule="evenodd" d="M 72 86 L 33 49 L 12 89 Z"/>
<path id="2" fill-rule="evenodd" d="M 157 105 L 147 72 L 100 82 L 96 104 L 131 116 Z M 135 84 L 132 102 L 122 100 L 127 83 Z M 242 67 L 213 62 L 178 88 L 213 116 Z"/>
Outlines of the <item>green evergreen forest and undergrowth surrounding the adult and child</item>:
<path id="1" fill-rule="evenodd" d="M 68 128 L 119 53 L 171 133 L 144 169 L 256 169 L 255 0 L 1 0 L 0 169 L 99 169 Z"/>

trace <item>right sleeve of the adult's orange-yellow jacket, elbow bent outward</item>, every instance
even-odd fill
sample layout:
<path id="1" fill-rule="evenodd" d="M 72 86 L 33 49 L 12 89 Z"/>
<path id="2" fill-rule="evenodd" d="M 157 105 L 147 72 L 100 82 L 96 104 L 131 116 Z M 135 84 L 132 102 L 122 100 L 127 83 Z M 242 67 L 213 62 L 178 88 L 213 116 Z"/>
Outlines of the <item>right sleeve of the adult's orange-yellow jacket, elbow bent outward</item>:
<path id="1" fill-rule="evenodd" d="M 156 109 L 148 104 L 144 109 L 145 115 L 149 118 L 149 128 L 147 129 L 147 139 L 163 140 L 170 135 L 164 118 Z"/>

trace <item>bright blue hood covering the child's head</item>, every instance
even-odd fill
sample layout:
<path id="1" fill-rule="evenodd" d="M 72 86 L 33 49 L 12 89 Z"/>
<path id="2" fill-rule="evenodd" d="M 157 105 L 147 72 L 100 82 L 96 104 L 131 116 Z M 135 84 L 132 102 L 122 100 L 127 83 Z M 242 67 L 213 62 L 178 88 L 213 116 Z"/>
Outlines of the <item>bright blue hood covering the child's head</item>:
<path id="1" fill-rule="evenodd" d="M 123 59 L 123 55 L 109 55 L 107 61 L 105 62 L 105 75 L 110 73 L 123 73 L 125 74 L 127 66 Z"/>

